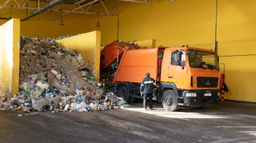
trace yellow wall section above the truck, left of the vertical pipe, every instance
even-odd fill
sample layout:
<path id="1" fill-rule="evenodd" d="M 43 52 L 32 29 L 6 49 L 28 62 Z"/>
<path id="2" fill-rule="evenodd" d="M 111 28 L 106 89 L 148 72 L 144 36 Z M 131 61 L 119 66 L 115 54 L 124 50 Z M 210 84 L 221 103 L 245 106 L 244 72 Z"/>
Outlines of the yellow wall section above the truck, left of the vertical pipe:
<path id="1" fill-rule="evenodd" d="M 215 0 L 118 2 L 115 12 L 119 15 L 119 39 L 123 41 L 156 39 L 157 45 L 171 47 L 209 43 L 212 45 L 208 47 L 213 46 Z M 91 29 L 101 30 L 102 44 L 116 40 L 117 16 L 100 16 L 99 28 L 95 26 L 97 21 L 98 17 L 93 16 Z"/>

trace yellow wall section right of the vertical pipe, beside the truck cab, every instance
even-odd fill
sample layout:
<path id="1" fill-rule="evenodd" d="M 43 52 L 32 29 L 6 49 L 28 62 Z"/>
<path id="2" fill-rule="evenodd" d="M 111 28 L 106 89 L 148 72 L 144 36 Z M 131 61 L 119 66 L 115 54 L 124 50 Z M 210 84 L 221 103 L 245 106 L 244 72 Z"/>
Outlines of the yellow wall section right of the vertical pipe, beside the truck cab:
<path id="1" fill-rule="evenodd" d="M 254 0 L 219 1 L 218 41 L 220 62 L 226 65 L 226 99 L 256 102 L 255 4 Z"/>

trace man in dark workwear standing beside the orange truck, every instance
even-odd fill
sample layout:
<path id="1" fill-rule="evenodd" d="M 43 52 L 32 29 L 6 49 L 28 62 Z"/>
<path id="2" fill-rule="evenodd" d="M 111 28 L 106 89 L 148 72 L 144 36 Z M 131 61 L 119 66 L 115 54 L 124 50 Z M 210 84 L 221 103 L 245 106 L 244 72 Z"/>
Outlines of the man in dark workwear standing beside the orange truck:
<path id="1" fill-rule="evenodd" d="M 153 89 L 155 79 L 150 78 L 150 73 L 146 73 L 146 78 L 143 79 L 140 85 L 140 92 L 144 94 L 143 107 L 147 108 L 147 99 L 149 98 L 149 109 L 153 109 Z"/>

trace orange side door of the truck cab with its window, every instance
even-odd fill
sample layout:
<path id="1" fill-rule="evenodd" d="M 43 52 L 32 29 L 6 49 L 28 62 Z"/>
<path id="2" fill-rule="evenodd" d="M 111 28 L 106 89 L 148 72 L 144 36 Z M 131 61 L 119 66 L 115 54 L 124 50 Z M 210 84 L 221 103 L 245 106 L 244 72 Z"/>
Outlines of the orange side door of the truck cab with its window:
<path id="1" fill-rule="evenodd" d="M 186 88 L 187 81 L 187 64 L 184 50 L 171 51 L 168 67 L 168 81 L 174 82 L 177 88 Z"/>

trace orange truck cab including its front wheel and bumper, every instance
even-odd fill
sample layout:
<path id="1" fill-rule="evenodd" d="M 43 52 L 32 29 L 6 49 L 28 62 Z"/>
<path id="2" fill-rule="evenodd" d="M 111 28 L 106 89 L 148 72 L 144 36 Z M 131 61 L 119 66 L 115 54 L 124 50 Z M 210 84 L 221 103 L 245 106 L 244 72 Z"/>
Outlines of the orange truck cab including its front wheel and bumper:
<path id="1" fill-rule="evenodd" d="M 160 79 L 159 99 L 167 110 L 177 110 L 177 105 L 218 104 L 221 74 L 217 56 L 211 50 L 165 48 Z"/>

